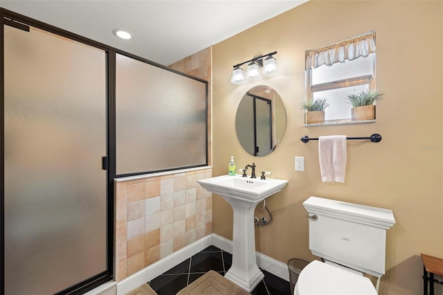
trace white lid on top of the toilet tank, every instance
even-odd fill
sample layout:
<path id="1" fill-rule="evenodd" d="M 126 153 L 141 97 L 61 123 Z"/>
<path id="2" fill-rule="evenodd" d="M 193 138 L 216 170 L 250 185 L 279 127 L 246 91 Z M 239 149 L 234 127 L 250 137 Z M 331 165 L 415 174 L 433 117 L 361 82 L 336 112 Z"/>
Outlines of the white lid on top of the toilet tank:
<path id="1" fill-rule="evenodd" d="M 309 197 L 303 202 L 306 211 L 309 213 L 323 214 L 338 217 L 344 220 L 363 222 L 373 226 L 389 229 L 395 224 L 392 210 L 341 202 L 334 199 L 322 197 Z"/>

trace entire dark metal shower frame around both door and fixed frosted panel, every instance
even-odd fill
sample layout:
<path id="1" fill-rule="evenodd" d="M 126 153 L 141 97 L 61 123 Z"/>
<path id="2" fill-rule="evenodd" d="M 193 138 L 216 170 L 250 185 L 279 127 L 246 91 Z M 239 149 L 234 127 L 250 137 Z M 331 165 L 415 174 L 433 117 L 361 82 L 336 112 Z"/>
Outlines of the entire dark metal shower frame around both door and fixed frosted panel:
<path id="1" fill-rule="evenodd" d="M 107 101 L 106 101 L 106 109 L 107 109 L 107 156 L 103 158 L 103 168 L 107 170 L 107 271 L 103 271 L 101 274 L 90 278 L 89 280 L 85 280 L 84 282 L 80 282 L 77 285 L 69 287 L 68 289 L 64 289 L 57 294 L 74 294 L 79 292 L 87 292 L 102 283 L 105 283 L 113 278 L 114 272 L 114 179 L 116 177 L 122 176 L 132 176 L 132 175 L 141 175 L 159 171 L 148 171 L 148 172 L 136 172 L 128 175 L 116 175 L 116 53 L 126 55 L 127 57 L 132 57 L 141 62 L 145 62 L 147 64 L 151 64 L 153 66 L 158 66 L 165 71 L 170 71 L 172 73 L 177 73 L 178 75 L 183 75 L 188 78 L 192 78 L 194 80 L 198 80 L 200 82 L 206 83 L 206 163 L 201 165 L 196 165 L 192 167 L 183 167 L 183 168 L 195 168 L 207 166 L 208 164 L 208 81 L 194 77 L 192 75 L 188 75 L 186 73 L 181 73 L 174 69 L 170 69 L 167 66 L 163 66 L 162 64 L 158 64 L 156 62 L 152 62 L 150 60 L 146 60 L 143 57 L 138 57 L 131 53 L 127 53 L 125 51 L 121 51 L 112 46 L 107 46 L 100 42 L 93 41 L 86 37 L 82 37 L 80 35 L 71 33 L 67 30 L 62 30 L 55 26 L 51 26 L 49 24 L 45 24 L 42 21 L 37 21 L 30 17 L 26 17 L 24 15 L 20 15 L 16 12 L 12 12 L 10 10 L 6 10 L 0 7 L 0 163 L 4 163 L 4 40 L 3 40 L 3 27 L 6 24 L 5 17 L 10 20 L 16 21 L 15 26 L 23 29 L 26 26 L 33 26 L 35 28 L 39 28 L 45 30 L 50 33 L 54 33 L 56 35 L 60 35 L 62 37 L 66 37 L 68 39 L 72 39 L 76 42 L 80 42 L 83 44 L 87 44 L 89 46 L 101 49 L 105 51 L 107 55 Z M 7 21 L 11 23 L 11 21 Z M 9 24 L 10 25 L 10 24 Z M 170 170 L 175 170 L 170 169 Z M 165 170 L 169 171 L 169 170 Z M 4 227 L 4 167 L 0 165 L 0 294 L 4 294 L 4 258 L 5 258 L 5 227 Z"/>

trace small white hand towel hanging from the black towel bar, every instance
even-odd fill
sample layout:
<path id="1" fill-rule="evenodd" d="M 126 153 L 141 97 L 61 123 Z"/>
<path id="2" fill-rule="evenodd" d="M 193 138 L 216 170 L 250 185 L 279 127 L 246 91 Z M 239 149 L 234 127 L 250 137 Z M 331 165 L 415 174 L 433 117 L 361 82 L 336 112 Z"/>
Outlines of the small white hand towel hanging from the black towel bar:
<path id="1" fill-rule="evenodd" d="M 321 181 L 345 182 L 346 136 L 318 137 L 318 159 L 320 160 Z"/>

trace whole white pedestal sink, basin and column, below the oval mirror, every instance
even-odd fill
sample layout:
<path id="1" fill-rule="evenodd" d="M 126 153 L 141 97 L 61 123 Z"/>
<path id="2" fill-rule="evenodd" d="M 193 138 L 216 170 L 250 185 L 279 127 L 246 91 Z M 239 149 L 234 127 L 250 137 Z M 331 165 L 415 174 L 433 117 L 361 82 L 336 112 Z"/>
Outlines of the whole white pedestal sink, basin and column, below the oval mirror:
<path id="1" fill-rule="evenodd" d="M 211 193 L 221 195 L 233 208 L 233 264 L 225 277 L 251 292 L 264 277 L 255 260 L 255 206 L 280 192 L 288 181 L 222 175 L 197 182 Z"/>

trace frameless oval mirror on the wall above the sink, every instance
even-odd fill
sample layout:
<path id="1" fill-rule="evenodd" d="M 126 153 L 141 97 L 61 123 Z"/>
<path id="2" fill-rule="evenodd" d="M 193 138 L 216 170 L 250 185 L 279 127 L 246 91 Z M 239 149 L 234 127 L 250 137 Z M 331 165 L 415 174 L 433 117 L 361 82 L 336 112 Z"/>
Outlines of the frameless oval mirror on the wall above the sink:
<path id="1" fill-rule="evenodd" d="M 248 154 L 264 157 L 280 144 L 286 127 L 286 111 L 277 91 L 266 85 L 247 91 L 237 109 L 235 129 Z"/>

